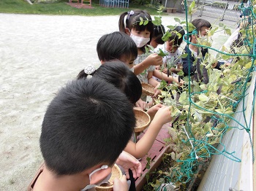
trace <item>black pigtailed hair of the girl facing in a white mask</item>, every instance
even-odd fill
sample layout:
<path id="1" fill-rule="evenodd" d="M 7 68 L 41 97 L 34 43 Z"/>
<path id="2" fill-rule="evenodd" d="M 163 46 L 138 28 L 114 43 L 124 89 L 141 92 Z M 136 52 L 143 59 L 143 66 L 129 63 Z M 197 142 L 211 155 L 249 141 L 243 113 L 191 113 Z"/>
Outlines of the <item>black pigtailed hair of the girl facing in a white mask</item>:
<path id="1" fill-rule="evenodd" d="M 125 18 L 125 16 L 127 16 Z M 148 20 L 148 23 L 146 25 L 140 24 L 141 19 L 143 21 Z M 134 9 L 129 12 L 123 12 L 119 17 L 119 31 L 125 33 L 125 28 L 129 28 L 131 31 L 132 28 L 134 28 L 136 31 L 149 31 L 150 32 L 150 41 L 152 39 L 153 33 L 154 33 L 154 24 L 152 23 L 151 16 L 148 14 L 148 12 L 140 10 L 140 9 Z M 145 52 L 145 46 L 140 48 Z"/>

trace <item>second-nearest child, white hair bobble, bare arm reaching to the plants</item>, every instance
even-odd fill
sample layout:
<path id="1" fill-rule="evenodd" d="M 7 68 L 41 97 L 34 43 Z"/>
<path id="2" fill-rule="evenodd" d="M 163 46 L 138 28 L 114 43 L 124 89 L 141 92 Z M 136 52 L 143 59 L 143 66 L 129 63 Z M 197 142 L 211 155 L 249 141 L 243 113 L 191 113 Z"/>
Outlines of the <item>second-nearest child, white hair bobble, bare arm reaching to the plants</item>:
<path id="1" fill-rule="evenodd" d="M 86 69 L 87 71 L 87 69 Z M 81 72 L 80 72 L 81 73 Z M 82 77 L 79 75 L 78 77 Z M 82 78 L 86 78 L 87 74 L 84 74 Z M 129 71 L 127 66 L 120 61 L 107 62 L 97 69 L 92 78 L 103 79 L 104 81 L 113 83 L 116 87 L 120 88 L 132 101 L 132 104 L 136 102 L 135 98 L 139 98 L 140 95 L 137 90 L 141 90 L 140 81 L 132 71 Z M 137 80 L 136 80 L 137 79 Z M 138 88 L 140 86 L 140 88 Z M 134 96 L 131 98 L 130 96 Z M 136 158 L 143 157 L 147 154 L 149 149 L 152 147 L 154 140 L 161 130 L 162 125 L 170 122 L 170 106 L 163 106 L 162 104 L 157 104 L 151 109 L 148 109 L 148 114 L 151 116 L 151 124 L 148 126 L 148 130 L 143 135 L 143 137 L 137 142 L 129 141 L 127 147 L 124 151 L 133 155 Z"/>

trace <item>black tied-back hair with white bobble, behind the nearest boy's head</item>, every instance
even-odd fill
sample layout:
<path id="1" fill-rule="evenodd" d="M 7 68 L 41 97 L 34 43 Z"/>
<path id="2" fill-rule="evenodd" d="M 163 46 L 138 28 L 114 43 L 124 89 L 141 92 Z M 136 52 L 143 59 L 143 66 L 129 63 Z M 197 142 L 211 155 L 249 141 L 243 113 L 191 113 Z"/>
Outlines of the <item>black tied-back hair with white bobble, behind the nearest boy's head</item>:
<path id="1" fill-rule="evenodd" d="M 78 79 L 86 78 L 88 75 L 83 71 L 78 74 Z M 129 70 L 121 61 L 105 62 L 99 69 L 94 71 L 93 78 L 97 77 L 110 82 L 127 95 L 132 104 L 135 104 L 141 96 L 142 87 L 138 77 Z"/>

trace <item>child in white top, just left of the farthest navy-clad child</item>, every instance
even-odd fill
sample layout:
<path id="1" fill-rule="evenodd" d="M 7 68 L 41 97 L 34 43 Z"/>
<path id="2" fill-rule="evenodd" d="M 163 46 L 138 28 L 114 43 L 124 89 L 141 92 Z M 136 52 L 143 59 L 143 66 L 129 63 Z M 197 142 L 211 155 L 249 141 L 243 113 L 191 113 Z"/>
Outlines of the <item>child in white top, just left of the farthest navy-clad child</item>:
<path id="1" fill-rule="evenodd" d="M 167 74 L 167 65 L 172 64 L 174 67 L 170 68 L 170 72 L 174 73 L 173 77 L 177 77 L 179 71 L 181 71 L 182 61 L 181 61 L 181 52 L 178 50 L 178 47 L 181 46 L 183 41 L 183 36 L 185 34 L 184 29 L 181 26 L 176 26 L 172 31 L 170 31 L 171 36 L 166 42 L 165 50 L 169 52 L 167 56 L 163 59 L 165 64 L 165 69 L 162 71 Z M 179 36 L 181 35 L 181 36 Z M 173 63 L 170 63 L 173 59 Z"/>

